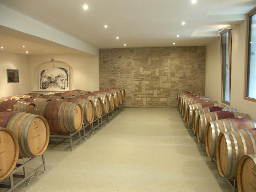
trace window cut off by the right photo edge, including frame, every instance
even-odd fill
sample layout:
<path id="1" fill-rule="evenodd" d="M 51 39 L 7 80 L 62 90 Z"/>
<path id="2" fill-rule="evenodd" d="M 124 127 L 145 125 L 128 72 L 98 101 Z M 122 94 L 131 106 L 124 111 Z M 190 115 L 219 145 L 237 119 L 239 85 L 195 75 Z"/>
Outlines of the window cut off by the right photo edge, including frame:
<path id="1" fill-rule="evenodd" d="M 248 14 L 245 99 L 256 102 L 256 10 Z"/>

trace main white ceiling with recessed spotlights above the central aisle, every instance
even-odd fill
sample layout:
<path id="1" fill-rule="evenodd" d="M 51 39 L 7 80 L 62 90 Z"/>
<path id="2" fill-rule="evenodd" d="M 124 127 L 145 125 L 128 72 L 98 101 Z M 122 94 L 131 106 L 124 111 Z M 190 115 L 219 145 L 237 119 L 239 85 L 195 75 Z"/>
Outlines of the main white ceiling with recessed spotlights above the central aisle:
<path id="1" fill-rule="evenodd" d="M 207 45 L 245 19 L 256 0 L 0 0 L 97 48 Z M 83 5 L 89 6 L 83 10 Z M 182 26 L 181 22 L 186 22 Z M 105 29 L 104 25 L 108 25 Z M 179 38 L 176 35 L 180 35 Z M 120 37 L 118 40 L 116 37 Z"/>

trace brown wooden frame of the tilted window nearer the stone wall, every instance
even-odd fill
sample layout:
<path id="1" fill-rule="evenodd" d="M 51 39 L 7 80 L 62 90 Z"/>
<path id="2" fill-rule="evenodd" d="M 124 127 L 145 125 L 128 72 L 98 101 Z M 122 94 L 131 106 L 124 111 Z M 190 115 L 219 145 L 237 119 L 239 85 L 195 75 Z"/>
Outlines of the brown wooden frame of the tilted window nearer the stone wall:
<path id="1" fill-rule="evenodd" d="M 221 101 L 222 103 L 225 103 L 226 105 L 230 105 L 230 101 L 231 101 L 231 54 L 232 54 L 232 38 L 231 38 L 231 29 L 226 29 L 221 31 L 221 33 L 219 34 L 219 38 L 220 38 L 220 45 L 222 45 L 221 42 L 221 35 L 223 33 L 226 33 L 228 31 L 228 35 L 229 35 L 229 102 L 225 101 L 223 99 L 223 71 L 222 71 L 222 46 L 221 46 Z"/>

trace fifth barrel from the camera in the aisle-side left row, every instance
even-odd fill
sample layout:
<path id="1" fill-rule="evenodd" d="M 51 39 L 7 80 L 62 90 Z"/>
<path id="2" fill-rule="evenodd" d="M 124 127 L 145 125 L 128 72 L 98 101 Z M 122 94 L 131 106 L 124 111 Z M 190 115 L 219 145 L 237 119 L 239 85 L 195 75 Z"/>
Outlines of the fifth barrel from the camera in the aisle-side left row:
<path id="1" fill-rule="evenodd" d="M 102 101 L 101 98 L 92 96 L 90 94 L 77 95 L 75 98 L 89 99 L 94 105 L 94 119 L 101 118 L 102 115 Z"/>

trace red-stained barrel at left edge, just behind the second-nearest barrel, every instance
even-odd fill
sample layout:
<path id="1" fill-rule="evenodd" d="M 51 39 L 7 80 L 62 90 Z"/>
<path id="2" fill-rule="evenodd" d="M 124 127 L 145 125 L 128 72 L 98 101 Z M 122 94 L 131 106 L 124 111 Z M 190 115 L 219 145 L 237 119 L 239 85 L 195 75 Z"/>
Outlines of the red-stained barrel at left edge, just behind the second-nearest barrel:
<path id="1" fill-rule="evenodd" d="M 0 103 L 0 112 L 11 109 L 12 111 L 33 113 L 34 108 L 34 103 L 26 102 L 23 100 L 8 100 Z"/>

